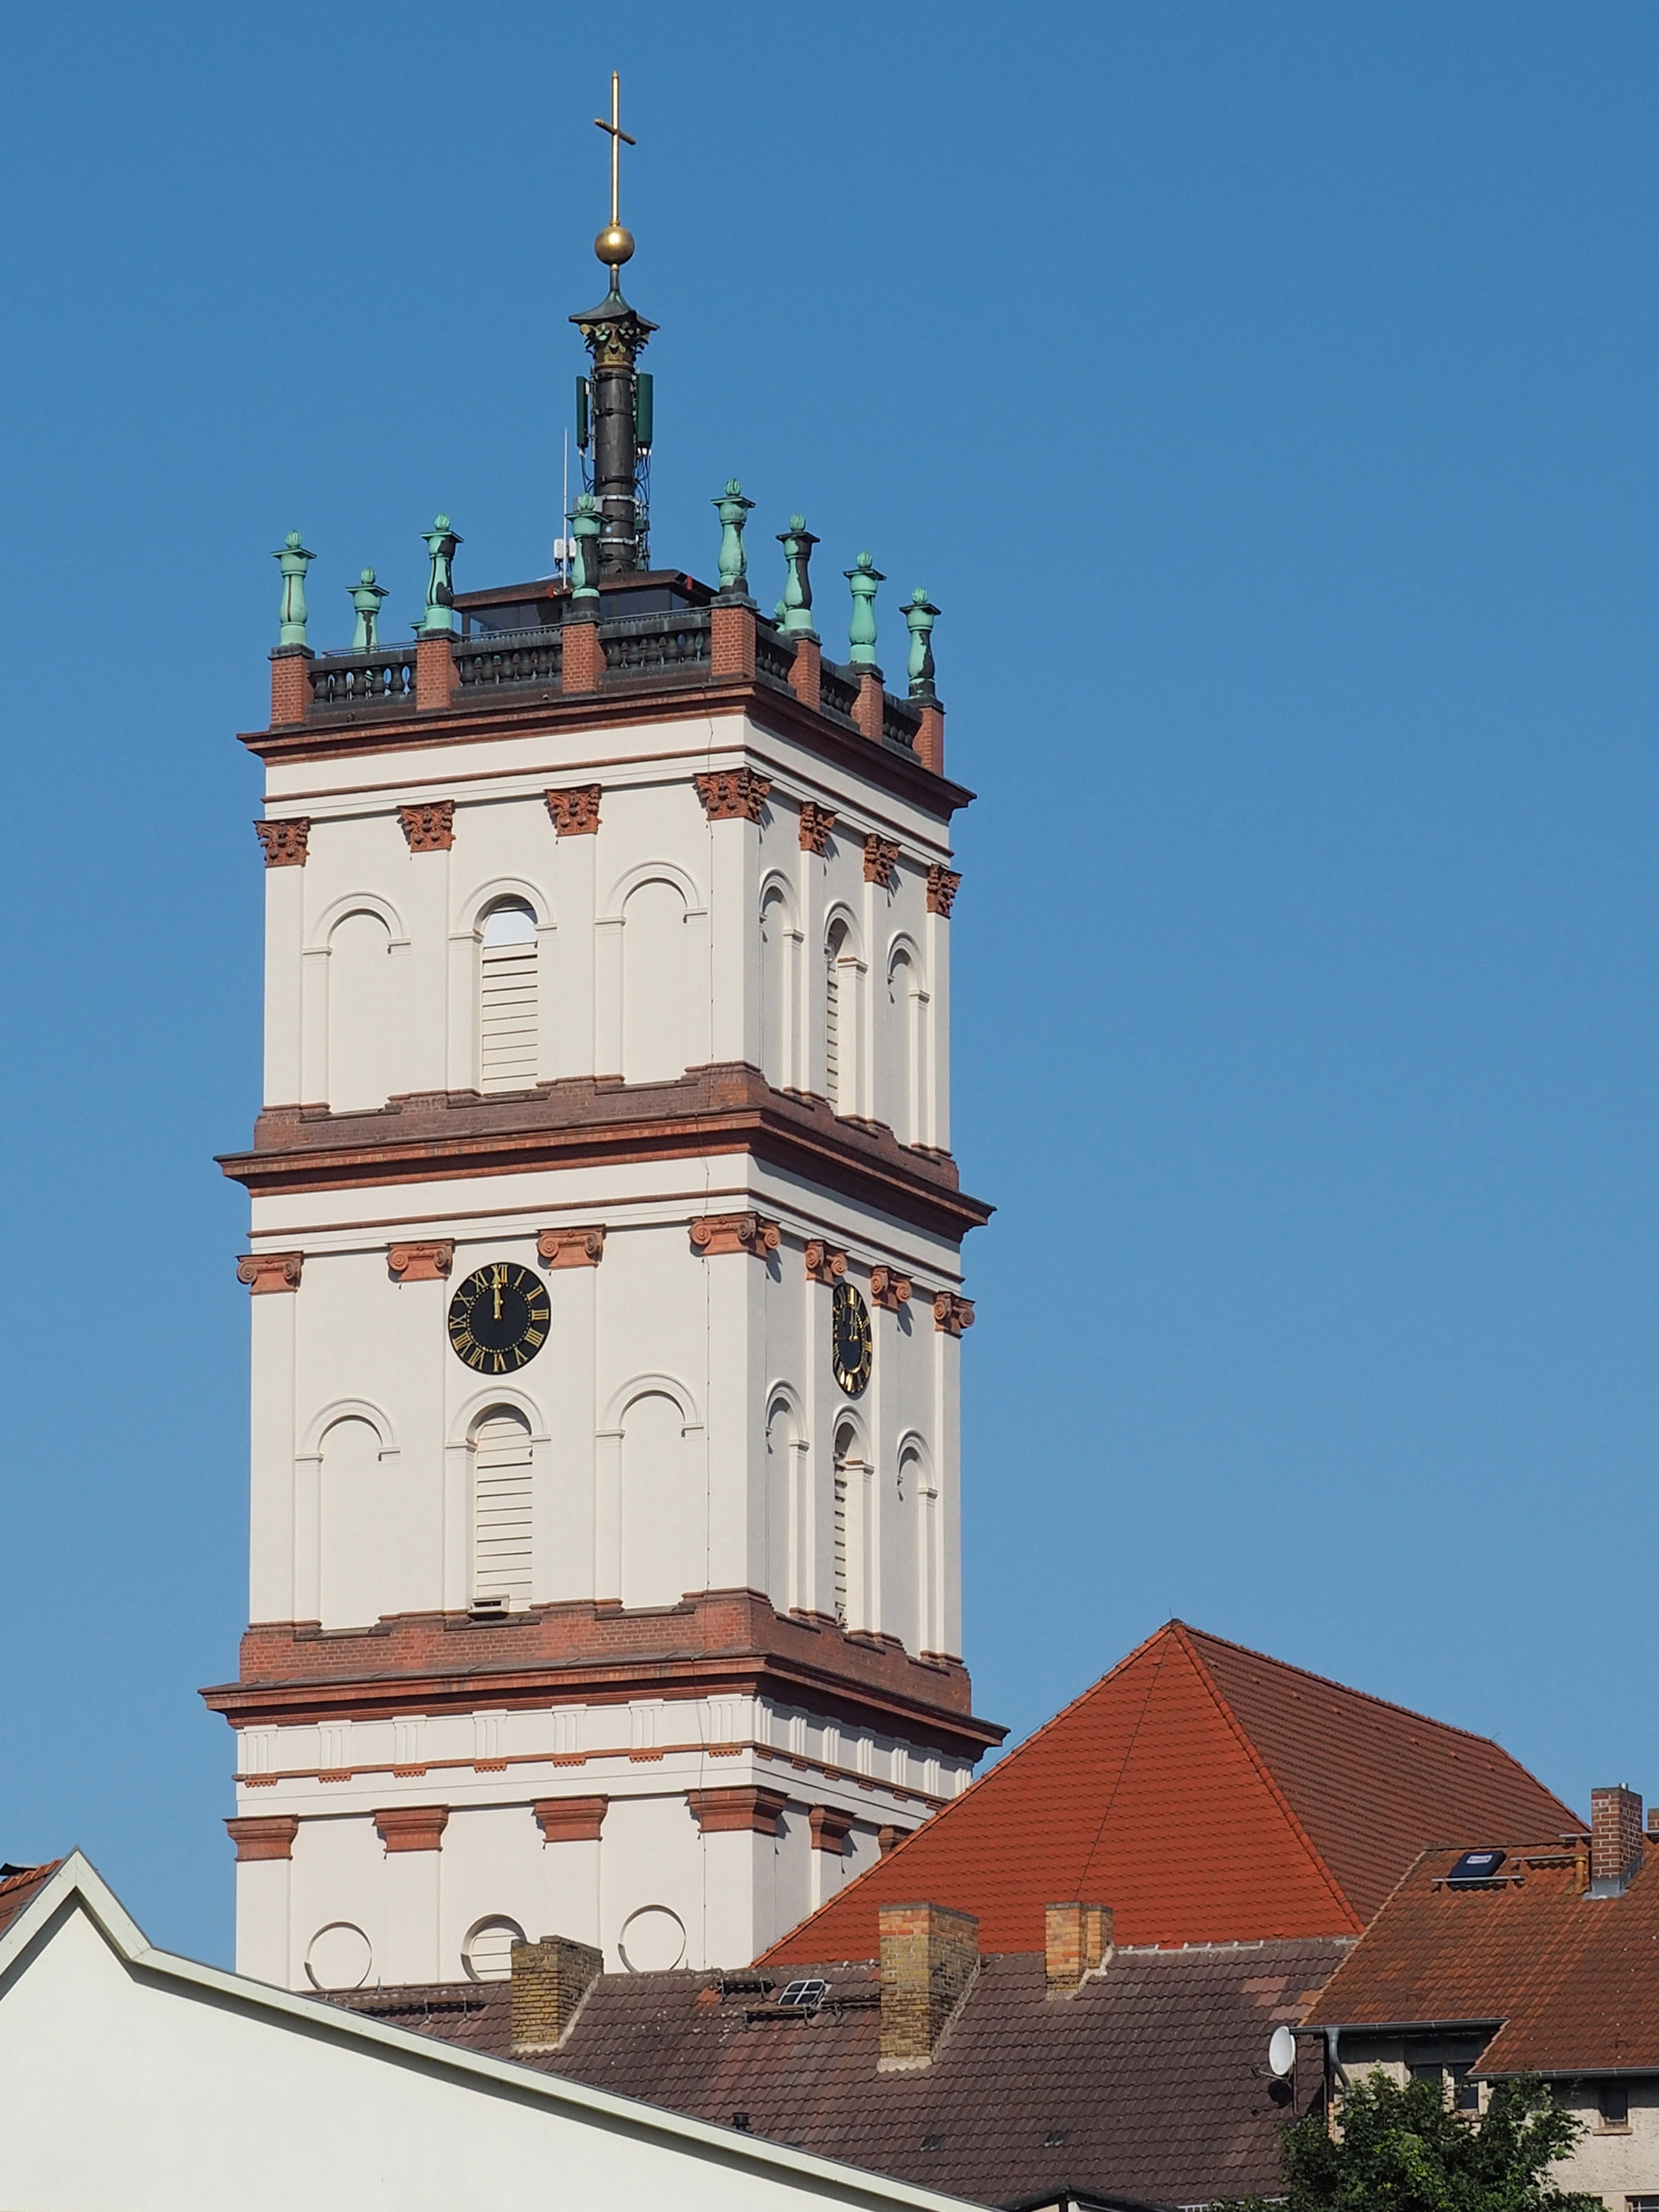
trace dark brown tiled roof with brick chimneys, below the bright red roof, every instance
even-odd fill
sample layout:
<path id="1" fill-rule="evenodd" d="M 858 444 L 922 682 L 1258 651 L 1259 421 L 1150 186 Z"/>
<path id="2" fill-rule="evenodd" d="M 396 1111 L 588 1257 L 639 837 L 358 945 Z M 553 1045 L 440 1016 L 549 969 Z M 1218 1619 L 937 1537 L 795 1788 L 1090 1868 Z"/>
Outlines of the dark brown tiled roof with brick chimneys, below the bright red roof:
<path id="1" fill-rule="evenodd" d="M 936 2062 L 878 2073 L 867 1964 L 816 1966 L 810 2020 L 750 2022 L 699 1973 L 602 1975 L 564 2051 L 526 2059 L 622 2097 L 845 2159 L 978 2203 L 1060 2188 L 1164 2205 L 1279 2185 L 1285 2110 L 1259 2073 L 1347 1942 L 1119 1951 L 1073 1997 L 1042 1958 L 987 1958 Z M 398 2026 L 511 2055 L 507 1984 L 336 2000 Z M 1298 2110 L 1318 2088 L 1301 2084 Z"/>

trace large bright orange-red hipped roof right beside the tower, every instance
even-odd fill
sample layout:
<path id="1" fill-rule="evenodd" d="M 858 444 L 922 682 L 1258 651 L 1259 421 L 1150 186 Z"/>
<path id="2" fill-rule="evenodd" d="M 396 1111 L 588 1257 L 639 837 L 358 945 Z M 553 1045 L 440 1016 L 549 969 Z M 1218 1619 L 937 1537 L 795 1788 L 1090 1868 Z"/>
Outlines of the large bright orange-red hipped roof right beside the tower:
<path id="1" fill-rule="evenodd" d="M 1170 1621 L 765 1960 L 874 1958 L 922 1898 L 984 1951 L 1066 1900 L 1124 1944 L 1354 1936 L 1427 1843 L 1577 1825 L 1484 1736 Z"/>

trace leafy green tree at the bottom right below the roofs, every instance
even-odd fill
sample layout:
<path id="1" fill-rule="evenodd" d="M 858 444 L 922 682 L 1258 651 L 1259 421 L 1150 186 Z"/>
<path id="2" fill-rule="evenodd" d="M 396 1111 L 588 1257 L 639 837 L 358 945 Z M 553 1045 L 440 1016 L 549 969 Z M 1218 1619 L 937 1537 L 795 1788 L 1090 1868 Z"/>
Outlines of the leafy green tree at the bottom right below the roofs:
<path id="1" fill-rule="evenodd" d="M 1584 2124 L 1537 2077 L 1493 2084 L 1486 2110 L 1455 2112 L 1438 2081 L 1371 2073 L 1343 2093 L 1340 2135 L 1310 2112 L 1285 2128 L 1287 2212 L 1601 2212 L 1548 2170 Z M 1223 2212 L 1223 2208 L 1214 2208 Z M 1225 2212 L 1267 2212 L 1243 2199 Z"/>

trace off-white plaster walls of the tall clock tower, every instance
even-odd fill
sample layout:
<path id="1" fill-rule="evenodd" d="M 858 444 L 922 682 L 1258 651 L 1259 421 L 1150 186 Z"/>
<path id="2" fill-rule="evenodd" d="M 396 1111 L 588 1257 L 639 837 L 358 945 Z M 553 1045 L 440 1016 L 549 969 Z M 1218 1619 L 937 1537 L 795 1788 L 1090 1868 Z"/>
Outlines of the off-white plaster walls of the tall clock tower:
<path id="1" fill-rule="evenodd" d="M 772 776 L 761 821 L 710 823 L 692 774 L 745 761 Z M 557 838 L 546 787 L 588 781 L 604 787 L 597 836 Z M 456 801 L 453 847 L 409 854 L 396 807 L 431 799 Z M 838 816 L 825 856 L 801 849 L 803 799 Z M 823 947 L 841 914 L 852 929 L 843 1110 L 885 1119 L 907 1141 L 947 1144 L 949 925 L 927 914 L 925 898 L 929 860 L 949 858 L 945 825 L 856 772 L 728 719 L 274 768 L 270 805 L 312 821 L 307 865 L 268 874 L 272 1104 L 330 1102 L 330 1060 L 338 1071 L 345 1057 L 356 1104 L 369 1104 L 367 1093 L 473 1088 L 480 922 L 507 896 L 538 922 L 542 1079 L 657 1082 L 745 1060 L 790 1088 L 823 1093 Z M 891 887 L 865 883 L 867 830 L 900 845 Z M 770 951 L 768 885 L 783 900 Z M 374 918 L 358 931 L 365 942 L 376 929 L 385 940 L 374 962 L 334 958 L 352 916 Z M 887 1002 L 896 945 L 916 987 L 898 1009 Z M 692 1217 L 743 1210 L 785 1228 L 768 1265 L 692 1250 Z M 608 1230 L 602 1263 L 546 1274 L 546 1349 L 511 1380 L 484 1385 L 447 1349 L 456 1283 L 487 1259 L 538 1265 L 542 1228 L 593 1221 Z M 453 1276 L 394 1283 L 387 1245 L 431 1237 L 456 1239 Z M 801 1263 L 812 1237 L 852 1254 L 865 1294 L 874 1265 L 918 1285 L 907 1312 L 874 1312 L 874 1380 L 854 1405 L 830 1369 L 830 1290 Z M 372 1422 L 380 1438 L 372 1535 L 358 1526 L 352 1537 L 372 1557 L 334 1577 L 369 1595 L 343 1601 L 345 1610 L 462 1610 L 467 1438 L 491 1402 L 515 1407 L 531 1427 L 533 1604 L 675 1604 L 692 1590 L 748 1586 L 781 1610 L 832 1617 L 834 1436 L 852 1413 L 860 1438 L 852 1626 L 911 1652 L 960 1650 L 960 1347 L 931 1318 L 931 1290 L 960 1283 L 951 1241 L 752 1159 L 712 1155 L 261 1199 L 259 1248 L 303 1250 L 305 1270 L 296 1294 L 252 1301 L 254 1619 L 321 1615 L 323 1453 L 338 1418 Z M 787 1467 L 768 1451 L 774 1405 L 787 1409 L 779 1429 Z M 916 1482 L 900 1495 L 907 1438 L 927 1464 L 927 1498 Z M 672 1750 L 686 1739 L 684 1710 L 648 1701 L 484 1725 L 487 1743 L 471 1717 L 259 1732 L 259 1759 L 281 1778 L 250 1785 L 243 1809 L 292 1809 L 303 1825 L 292 1865 L 241 1869 L 241 1955 L 285 1960 L 296 1978 L 316 1927 L 349 1918 L 374 1942 L 376 1971 L 453 1978 L 465 1933 L 484 1913 L 611 1949 L 628 1913 L 657 1902 L 681 1916 L 692 1958 L 741 1964 L 852 1863 L 810 1849 L 807 1801 L 792 1801 L 779 1838 L 699 1836 L 686 1809 L 690 1787 L 779 1781 L 759 1754 L 737 1765 L 708 1759 L 710 1741 L 772 1736 L 790 1759 L 805 1747 L 810 1717 L 754 1714 L 741 1728 L 706 1719 L 695 1752 Z M 630 1763 L 664 1730 L 661 1767 Z M 305 1734 L 301 1756 L 294 1739 Z M 902 1827 L 925 1812 L 891 1792 L 940 1796 L 967 1778 L 889 1739 L 849 1734 L 825 1747 L 818 1730 L 814 1743 L 825 1778 L 814 1776 L 810 1801 L 838 1803 L 845 1792 L 865 1858 L 878 1825 Z M 520 1763 L 507 1776 L 476 1772 L 484 1750 Z M 586 1765 L 551 1763 L 577 1750 Z M 420 1759 L 434 1761 L 425 1776 L 392 1774 Z M 316 1781 L 345 1767 L 352 1781 Z M 843 1767 L 874 1794 L 836 1781 Z M 613 1796 L 604 1843 L 542 1845 L 531 1798 L 595 1790 Z M 369 1816 L 403 1803 L 453 1807 L 442 1851 L 383 1851 Z"/>

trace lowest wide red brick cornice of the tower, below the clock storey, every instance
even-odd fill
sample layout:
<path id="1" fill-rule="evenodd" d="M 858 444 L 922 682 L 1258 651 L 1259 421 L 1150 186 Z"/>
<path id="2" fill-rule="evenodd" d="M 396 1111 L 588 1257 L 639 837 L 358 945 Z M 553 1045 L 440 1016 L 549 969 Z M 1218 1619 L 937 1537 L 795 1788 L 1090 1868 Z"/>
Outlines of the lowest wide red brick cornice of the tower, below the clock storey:
<path id="1" fill-rule="evenodd" d="M 958 1659 L 911 1659 L 834 1621 L 781 1615 L 757 1590 L 703 1590 L 670 1610 L 560 1604 L 509 1619 L 405 1613 L 361 1637 L 314 1624 L 257 1624 L 241 1681 L 201 1692 L 232 1728 L 398 1712 L 471 1712 L 630 1697 L 761 1694 L 958 1759 L 1004 1730 L 971 1712 Z"/>

